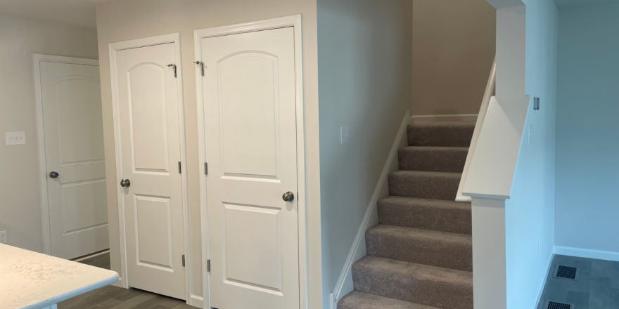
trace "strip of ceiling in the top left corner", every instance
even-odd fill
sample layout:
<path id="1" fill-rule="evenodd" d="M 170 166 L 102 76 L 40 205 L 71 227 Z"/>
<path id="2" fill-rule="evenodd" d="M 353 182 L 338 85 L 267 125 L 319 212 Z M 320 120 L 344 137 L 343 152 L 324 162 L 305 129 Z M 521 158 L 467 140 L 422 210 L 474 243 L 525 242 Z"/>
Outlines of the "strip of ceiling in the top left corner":
<path id="1" fill-rule="evenodd" d="M 117 0 L 0 0 L 0 13 L 96 28 L 95 7 Z"/>

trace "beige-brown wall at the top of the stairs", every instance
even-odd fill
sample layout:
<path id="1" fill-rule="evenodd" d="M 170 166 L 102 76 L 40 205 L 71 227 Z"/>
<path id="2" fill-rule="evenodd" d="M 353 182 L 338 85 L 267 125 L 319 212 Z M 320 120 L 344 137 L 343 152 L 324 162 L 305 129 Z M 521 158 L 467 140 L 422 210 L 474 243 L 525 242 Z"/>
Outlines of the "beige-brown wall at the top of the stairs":
<path id="1" fill-rule="evenodd" d="M 413 0 L 412 114 L 478 114 L 496 26 L 486 0 Z"/>

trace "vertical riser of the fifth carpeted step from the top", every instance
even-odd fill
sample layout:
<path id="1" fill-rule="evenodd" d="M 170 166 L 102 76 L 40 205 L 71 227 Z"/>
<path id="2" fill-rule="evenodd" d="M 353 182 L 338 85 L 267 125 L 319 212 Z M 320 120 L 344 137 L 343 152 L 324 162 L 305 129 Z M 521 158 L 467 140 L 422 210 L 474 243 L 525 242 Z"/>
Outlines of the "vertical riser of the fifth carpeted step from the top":
<path id="1" fill-rule="evenodd" d="M 464 237 L 464 235 L 463 235 Z M 473 271 L 473 244 L 367 230 L 367 254 L 423 265 Z"/>

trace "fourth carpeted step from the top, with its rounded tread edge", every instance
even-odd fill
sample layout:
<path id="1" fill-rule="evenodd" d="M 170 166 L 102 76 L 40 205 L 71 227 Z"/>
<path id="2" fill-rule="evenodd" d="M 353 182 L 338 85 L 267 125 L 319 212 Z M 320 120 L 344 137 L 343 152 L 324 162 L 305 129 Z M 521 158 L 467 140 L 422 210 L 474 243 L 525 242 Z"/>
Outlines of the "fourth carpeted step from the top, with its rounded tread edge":
<path id="1" fill-rule="evenodd" d="M 388 196 L 377 210 L 380 224 L 472 234 L 471 202 Z"/>

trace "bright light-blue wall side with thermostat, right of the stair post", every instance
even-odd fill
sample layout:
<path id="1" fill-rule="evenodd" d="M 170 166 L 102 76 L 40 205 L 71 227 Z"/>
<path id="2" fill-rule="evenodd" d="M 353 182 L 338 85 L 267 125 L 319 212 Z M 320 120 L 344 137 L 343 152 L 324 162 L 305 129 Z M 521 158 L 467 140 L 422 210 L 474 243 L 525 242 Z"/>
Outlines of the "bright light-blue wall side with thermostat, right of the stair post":
<path id="1" fill-rule="evenodd" d="M 535 308 L 554 248 L 558 11 L 552 0 L 523 2 L 527 6 L 526 93 L 540 98 L 541 108 L 529 107 L 511 199 L 506 201 L 509 309 Z"/>

